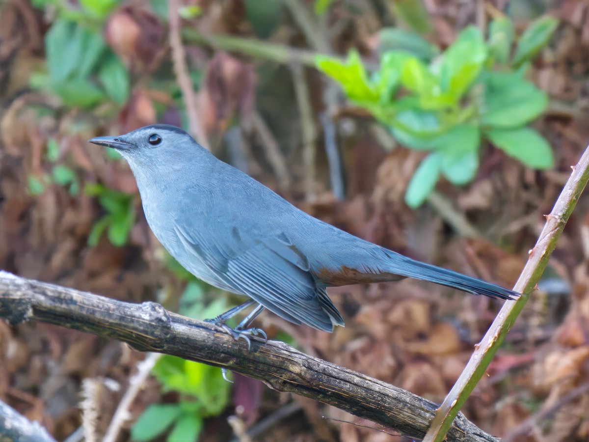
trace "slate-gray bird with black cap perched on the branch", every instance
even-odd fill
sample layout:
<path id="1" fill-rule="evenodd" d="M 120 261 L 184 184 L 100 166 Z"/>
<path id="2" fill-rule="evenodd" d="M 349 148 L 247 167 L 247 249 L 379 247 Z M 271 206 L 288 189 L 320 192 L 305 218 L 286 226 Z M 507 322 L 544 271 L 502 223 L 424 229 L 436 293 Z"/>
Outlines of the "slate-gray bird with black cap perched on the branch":
<path id="1" fill-rule="evenodd" d="M 146 126 L 90 143 L 117 149 L 137 179 L 147 222 L 188 271 L 211 285 L 251 298 L 213 321 L 257 304 L 232 332 L 264 308 L 294 324 L 324 331 L 343 325 L 326 288 L 423 279 L 474 295 L 514 299 L 519 293 L 419 262 L 307 215 L 229 164 L 180 128 Z"/>

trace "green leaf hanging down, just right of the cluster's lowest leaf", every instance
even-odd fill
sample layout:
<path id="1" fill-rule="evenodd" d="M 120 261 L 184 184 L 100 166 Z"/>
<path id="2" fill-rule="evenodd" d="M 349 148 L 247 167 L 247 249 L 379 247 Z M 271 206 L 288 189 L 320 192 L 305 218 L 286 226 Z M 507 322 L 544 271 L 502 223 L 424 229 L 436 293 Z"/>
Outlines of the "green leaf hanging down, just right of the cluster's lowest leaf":
<path id="1" fill-rule="evenodd" d="M 479 129 L 472 124 L 461 124 L 444 134 L 436 146 L 442 156 L 442 174 L 452 184 L 461 186 L 471 182 L 477 173 Z"/>

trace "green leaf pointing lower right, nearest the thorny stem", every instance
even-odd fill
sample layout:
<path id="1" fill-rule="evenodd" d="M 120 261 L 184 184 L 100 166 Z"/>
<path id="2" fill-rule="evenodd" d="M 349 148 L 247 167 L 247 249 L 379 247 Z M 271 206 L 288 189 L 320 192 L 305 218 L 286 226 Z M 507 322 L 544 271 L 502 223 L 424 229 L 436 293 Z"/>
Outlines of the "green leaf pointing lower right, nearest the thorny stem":
<path id="1" fill-rule="evenodd" d="M 554 165 L 550 144 L 529 127 L 488 130 L 485 136 L 509 156 L 534 169 L 550 169 Z"/>

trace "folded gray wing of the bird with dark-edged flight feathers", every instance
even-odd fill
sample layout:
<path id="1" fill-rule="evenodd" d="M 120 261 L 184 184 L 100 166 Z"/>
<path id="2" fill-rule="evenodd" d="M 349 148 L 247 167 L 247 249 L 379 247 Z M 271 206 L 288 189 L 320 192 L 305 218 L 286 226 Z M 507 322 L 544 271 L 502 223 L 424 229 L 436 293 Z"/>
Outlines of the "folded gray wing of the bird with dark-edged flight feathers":
<path id="1" fill-rule="evenodd" d="M 181 227 L 177 227 L 177 233 L 187 249 L 204 257 L 219 279 L 287 321 L 323 331 L 332 331 L 333 324 L 343 325 L 325 288 L 316 285 L 305 256 L 284 233 L 241 250 L 228 246 L 239 244 L 237 238 L 234 242 L 224 240 L 221 245 L 218 239 L 203 241 L 198 232 L 188 236 Z"/>

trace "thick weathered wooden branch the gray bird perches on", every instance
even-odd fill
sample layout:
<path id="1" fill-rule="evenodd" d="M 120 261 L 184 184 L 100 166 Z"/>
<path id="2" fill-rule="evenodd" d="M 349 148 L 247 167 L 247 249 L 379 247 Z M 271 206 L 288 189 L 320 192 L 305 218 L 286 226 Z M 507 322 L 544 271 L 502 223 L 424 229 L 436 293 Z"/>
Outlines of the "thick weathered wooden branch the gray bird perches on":
<path id="1" fill-rule="evenodd" d="M 166 311 L 154 302 L 131 304 L 20 278 L 0 271 L 0 318 L 10 324 L 39 321 L 127 342 L 155 351 L 227 368 L 288 391 L 341 408 L 421 439 L 436 404 L 411 392 L 310 357 L 282 342 L 234 341 L 220 327 Z M 378 363 L 378 355 L 375 355 Z M 459 414 L 450 441 L 498 441 Z"/>

